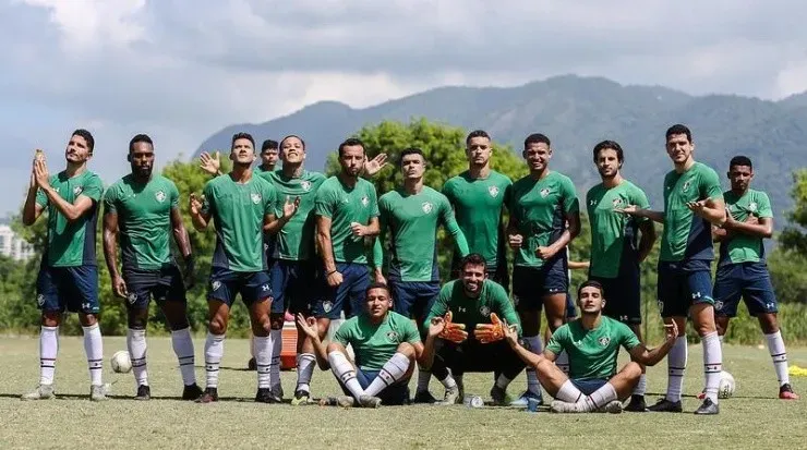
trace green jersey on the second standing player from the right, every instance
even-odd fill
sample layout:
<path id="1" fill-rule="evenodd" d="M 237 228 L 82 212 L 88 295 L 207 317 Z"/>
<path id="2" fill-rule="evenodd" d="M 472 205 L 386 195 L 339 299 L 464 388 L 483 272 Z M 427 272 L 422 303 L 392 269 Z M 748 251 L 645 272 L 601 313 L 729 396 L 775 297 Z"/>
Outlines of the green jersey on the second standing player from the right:
<path id="1" fill-rule="evenodd" d="M 689 202 L 723 197 L 718 173 L 696 162 L 684 173 L 675 170 L 664 177 L 664 231 L 660 260 L 714 259 L 712 226 L 687 207 Z"/>

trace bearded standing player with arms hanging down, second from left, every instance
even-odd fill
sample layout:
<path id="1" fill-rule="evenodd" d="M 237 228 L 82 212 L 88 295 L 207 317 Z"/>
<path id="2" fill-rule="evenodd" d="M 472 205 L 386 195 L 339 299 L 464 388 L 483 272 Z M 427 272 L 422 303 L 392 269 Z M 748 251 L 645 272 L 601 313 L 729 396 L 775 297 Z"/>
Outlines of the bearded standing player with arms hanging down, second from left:
<path id="1" fill-rule="evenodd" d="M 173 352 L 182 373 L 183 400 L 196 400 L 193 340 L 188 323 L 185 282 L 192 285 L 194 258 L 182 223 L 179 191 L 172 181 L 154 170 L 154 143 L 145 134 L 129 142 L 132 172 L 109 186 L 104 195 L 104 255 L 112 290 L 125 299 L 129 331 L 127 346 L 137 392 L 135 399 L 152 398 L 146 368 L 146 324 L 152 297 L 171 327 Z M 118 271 L 118 235 L 122 271 Z M 171 255 L 168 236 L 173 234 L 184 259 L 184 281 Z"/>

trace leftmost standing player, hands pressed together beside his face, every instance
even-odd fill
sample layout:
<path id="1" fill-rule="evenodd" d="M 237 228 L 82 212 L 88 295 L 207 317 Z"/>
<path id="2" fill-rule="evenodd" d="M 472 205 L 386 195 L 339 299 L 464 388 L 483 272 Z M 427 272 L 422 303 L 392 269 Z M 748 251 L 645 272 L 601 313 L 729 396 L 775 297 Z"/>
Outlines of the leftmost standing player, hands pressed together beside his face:
<path id="1" fill-rule="evenodd" d="M 89 399 L 106 400 L 101 381 L 104 343 L 97 318 L 100 304 L 95 255 L 98 202 L 104 184 L 87 169 L 94 148 L 93 135 L 86 130 L 76 130 L 64 150 L 67 168 L 63 171 L 51 175 L 40 151 L 33 161 L 22 222 L 26 227 L 34 224 L 47 209 L 48 239 L 36 282 L 36 299 L 41 309 L 39 386 L 24 394 L 23 400 L 55 397 L 53 372 L 64 312 L 79 313 L 84 330 Z"/>

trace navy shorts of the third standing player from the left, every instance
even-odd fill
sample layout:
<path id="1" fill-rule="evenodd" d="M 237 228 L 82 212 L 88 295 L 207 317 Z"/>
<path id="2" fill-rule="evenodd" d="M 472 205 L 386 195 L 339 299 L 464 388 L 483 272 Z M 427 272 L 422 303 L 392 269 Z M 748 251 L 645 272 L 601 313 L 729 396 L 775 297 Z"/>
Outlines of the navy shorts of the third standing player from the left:
<path id="1" fill-rule="evenodd" d="M 232 306 L 238 294 L 241 294 L 241 301 L 248 306 L 264 299 L 272 299 L 269 275 L 263 270 L 237 272 L 224 267 L 212 267 L 207 299 Z"/>

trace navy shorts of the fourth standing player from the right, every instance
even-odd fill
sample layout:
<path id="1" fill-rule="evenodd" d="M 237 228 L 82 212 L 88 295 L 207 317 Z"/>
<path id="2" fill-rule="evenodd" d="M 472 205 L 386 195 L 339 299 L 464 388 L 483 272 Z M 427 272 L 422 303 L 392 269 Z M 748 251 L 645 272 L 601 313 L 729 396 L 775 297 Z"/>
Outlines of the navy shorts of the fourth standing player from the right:
<path id="1" fill-rule="evenodd" d="M 543 297 L 568 292 L 568 264 L 555 256 L 541 267 L 513 269 L 513 302 L 519 311 L 541 311 Z"/>

